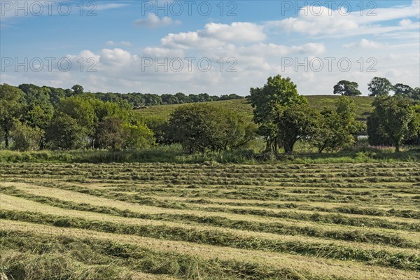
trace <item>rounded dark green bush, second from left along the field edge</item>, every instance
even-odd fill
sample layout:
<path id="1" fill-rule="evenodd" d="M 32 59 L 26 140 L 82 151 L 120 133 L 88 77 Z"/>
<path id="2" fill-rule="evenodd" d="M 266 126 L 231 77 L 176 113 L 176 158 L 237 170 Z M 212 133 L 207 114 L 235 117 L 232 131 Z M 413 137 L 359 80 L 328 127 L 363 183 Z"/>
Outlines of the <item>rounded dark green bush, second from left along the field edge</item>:
<path id="1" fill-rule="evenodd" d="M 66 113 L 56 112 L 45 130 L 45 139 L 54 148 L 74 150 L 86 146 L 87 129 Z"/>

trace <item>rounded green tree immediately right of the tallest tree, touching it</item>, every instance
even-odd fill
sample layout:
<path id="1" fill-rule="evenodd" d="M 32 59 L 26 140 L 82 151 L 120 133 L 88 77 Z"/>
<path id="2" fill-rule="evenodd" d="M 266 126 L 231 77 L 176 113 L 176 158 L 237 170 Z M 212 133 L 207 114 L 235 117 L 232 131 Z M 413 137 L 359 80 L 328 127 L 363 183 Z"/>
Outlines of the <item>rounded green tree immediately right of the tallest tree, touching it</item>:
<path id="1" fill-rule="evenodd" d="M 284 153 L 293 153 L 297 140 L 309 139 L 316 131 L 317 114 L 307 104 L 278 106 L 276 111 L 278 144 L 283 147 Z"/>

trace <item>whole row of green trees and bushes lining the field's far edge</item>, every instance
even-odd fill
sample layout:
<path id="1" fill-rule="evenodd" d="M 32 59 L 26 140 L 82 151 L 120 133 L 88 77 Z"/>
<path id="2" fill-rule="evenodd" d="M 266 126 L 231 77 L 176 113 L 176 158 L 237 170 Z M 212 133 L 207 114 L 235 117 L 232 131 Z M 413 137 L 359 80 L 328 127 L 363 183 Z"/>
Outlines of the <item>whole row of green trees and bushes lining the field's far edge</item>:
<path id="1" fill-rule="evenodd" d="M 80 85 L 61 90 L 3 84 L 0 141 L 10 148 L 11 139 L 13 148 L 20 151 L 124 150 L 179 143 L 188 153 L 204 153 L 246 148 L 260 138 L 267 153 L 279 153 L 280 149 L 293 153 L 297 141 L 307 141 L 322 153 L 350 147 L 358 134 L 367 131 L 370 144 L 392 145 L 400 151 L 403 144 L 420 140 L 420 104 L 412 90 L 405 92 L 411 93 L 392 97 L 388 92 L 377 94 L 366 127 L 356 120 L 355 104 L 349 97 L 340 97 L 334 109 L 311 109 L 307 98 L 297 93 L 295 83 L 277 75 L 269 77 L 262 87 L 250 89 L 247 100 L 253 107 L 253 122 L 206 103 L 179 106 L 169 120 L 153 123 L 133 110 L 137 103 L 129 94 L 109 98 L 110 94 L 84 92 Z M 186 95 L 178 94 L 178 102 L 191 100 L 180 97 Z"/>

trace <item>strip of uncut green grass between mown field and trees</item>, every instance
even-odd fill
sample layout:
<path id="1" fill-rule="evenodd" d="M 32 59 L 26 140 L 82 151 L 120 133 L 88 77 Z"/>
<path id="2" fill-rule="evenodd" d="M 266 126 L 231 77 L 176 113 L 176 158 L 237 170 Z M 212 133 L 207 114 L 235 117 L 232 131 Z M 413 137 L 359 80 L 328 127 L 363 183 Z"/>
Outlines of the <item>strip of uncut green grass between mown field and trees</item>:
<path id="1" fill-rule="evenodd" d="M 297 144 L 300 146 L 300 144 Z M 304 145 L 302 145 L 304 146 Z M 307 148 L 298 149 L 293 155 L 279 155 L 278 158 L 262 158 L 261 148 L 238 151 L 188 154 L 179 145 L 157 146 L 136 151 L 1 151 L 0 162 L 65 162 L 65 163 L 109 163 L 109 162 L 168 162 L 168 163 L 367 163 L 367 162 L 418 162 L 420 149 L 407 147 L 400 153 L 367 146 L 356 146 L 336 153 L 314 153 Z"/>

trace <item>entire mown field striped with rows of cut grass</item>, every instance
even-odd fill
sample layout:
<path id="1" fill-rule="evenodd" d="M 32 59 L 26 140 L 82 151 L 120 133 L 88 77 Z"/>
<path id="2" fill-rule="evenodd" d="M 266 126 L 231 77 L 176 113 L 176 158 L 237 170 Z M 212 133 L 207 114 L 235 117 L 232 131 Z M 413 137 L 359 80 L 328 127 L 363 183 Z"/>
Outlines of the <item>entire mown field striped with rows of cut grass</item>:
<path id="1" fill-rule="evenodd" d="M 419 162 L 3 162 L 0 273 L 420 279 L 419 206 Z"/>

